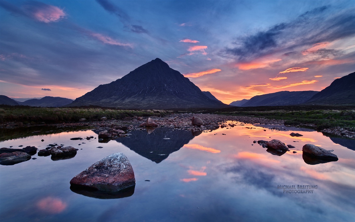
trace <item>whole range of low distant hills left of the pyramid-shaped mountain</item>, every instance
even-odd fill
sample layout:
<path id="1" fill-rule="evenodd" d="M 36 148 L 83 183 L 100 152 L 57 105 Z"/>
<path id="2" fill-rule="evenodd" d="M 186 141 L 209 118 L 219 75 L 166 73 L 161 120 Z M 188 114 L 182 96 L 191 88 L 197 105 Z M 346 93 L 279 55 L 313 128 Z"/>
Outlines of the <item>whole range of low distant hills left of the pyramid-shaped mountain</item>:
<path id="1" fill-rule="evenodd" d="M 42 99 L 28 99 L 24 102 L 16 101 L 7 96 L 0 95 L 0 104 L 4 105 L 28 105 L 35 107 L 61 107 L 72 103 L 72 99 L 62 97 L 45 96 Z"/>

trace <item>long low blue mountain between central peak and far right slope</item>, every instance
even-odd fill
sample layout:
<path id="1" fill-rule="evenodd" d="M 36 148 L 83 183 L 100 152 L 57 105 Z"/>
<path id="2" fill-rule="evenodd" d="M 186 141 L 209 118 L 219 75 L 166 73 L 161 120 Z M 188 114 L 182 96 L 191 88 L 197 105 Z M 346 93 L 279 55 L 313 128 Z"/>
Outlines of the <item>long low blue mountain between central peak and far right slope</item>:
<path id="1" fill-rule="evenodd" d="M 318 91 L 280 91 L 252 97 L 242 107 L 298 105 L 306 102 Z"/>

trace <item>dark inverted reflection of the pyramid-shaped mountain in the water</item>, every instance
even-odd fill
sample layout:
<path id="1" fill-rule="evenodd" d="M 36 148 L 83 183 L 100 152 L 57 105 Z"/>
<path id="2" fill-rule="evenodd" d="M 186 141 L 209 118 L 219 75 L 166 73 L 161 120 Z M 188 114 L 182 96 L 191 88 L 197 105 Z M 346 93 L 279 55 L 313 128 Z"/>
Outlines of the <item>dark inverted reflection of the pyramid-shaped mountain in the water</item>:
<path id="1" fill-rule="evenodd" d="M 130 132 L 130 134 L 132 135 L 129 138 L 122 137 L 116 141 L 155 163 L 162 162 L 168 158 L 170 153 L 180 150 L 195 137 L 190 131 L 169 128 L 157 128 L 151 133 L 137 130 Z"/>

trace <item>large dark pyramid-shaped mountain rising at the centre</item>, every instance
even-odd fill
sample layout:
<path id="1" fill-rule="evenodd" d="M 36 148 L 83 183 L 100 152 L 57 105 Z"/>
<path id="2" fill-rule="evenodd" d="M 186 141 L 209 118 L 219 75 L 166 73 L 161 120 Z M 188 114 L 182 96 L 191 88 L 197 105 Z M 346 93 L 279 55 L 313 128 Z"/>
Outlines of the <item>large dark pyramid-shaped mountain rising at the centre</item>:
<path id="1" fill-rule="evenodd" d="M 157 58 L 67 106 L 98 105 L 124 109 L 222 108 L 180 72 Z"/>

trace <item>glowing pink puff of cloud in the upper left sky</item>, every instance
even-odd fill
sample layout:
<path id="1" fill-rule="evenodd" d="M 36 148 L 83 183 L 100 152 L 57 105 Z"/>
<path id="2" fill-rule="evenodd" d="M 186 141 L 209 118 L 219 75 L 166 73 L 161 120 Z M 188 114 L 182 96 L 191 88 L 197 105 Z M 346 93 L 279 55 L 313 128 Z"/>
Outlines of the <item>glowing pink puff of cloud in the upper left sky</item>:
<path id="1" fill-rule="evenodd" d="M 53 5 L 40 4 L 31 7 L 32 16 L 40 22 L 58 22 L 66 16 L 65 12 Z"/>

